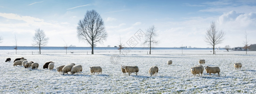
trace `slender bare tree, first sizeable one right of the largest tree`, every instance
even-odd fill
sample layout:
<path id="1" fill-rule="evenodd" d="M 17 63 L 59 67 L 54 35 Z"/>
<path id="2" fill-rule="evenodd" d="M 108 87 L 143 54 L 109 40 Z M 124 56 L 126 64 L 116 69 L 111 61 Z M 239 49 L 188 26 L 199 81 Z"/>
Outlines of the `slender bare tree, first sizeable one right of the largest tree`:
<path id="1" fill-rule="evenodd" d="M 148 45 L 149 46 L 149 54 L 151 54 L 151 46 L 154 44 L 158 44 L 158 40 L 155 40 L 155 37 L 157 37 L 156 34 L 156 28 L 154 25 L 150 26 L 148 29 L 146 29 L 146 34 L 145 34 L 145 41 L 143 45 Z"/>

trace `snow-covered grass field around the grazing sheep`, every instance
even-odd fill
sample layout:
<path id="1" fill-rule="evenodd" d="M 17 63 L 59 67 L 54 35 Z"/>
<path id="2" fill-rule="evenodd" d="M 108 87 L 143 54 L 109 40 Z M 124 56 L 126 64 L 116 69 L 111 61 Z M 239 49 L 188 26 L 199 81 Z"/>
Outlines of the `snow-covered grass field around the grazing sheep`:
<path id="1" fill-rule="evenodd" d="M 116 55 L 115 50 L 95 55 L 86 52 L 65 55 L 64 50 L 61 53 L 56 50 L 32 55 L 19 50 L 15 55 L 15 50 L 11 51 L 0 52 L 0 93 L 256 93 L 256 52 L 244 55 L 244 51 L 219 51 L 211 55 L 208 50 L 194 50 L 181 55 L 180 50 L 153 50 L 154 55 L 146 55 L 142 50 Z M 14 59 L 20 57 L 39 63 L 38 70 L 13 66 Z M 11 62 L 5 62 L 6 58 L 11 58 Z M 209 76 L 205 70 L 202 77 L 194 77 L 190 67 L 198 65 L 199 59 L 205 59 L 205 65 L 219 66 L 220 77 Z M 172 66 L 167 65 L 167 60 L 173 60 Z M 54 70 L 43 69 L 48 61 L 55 63 Z M 235 62 L 242 63 L 241 70 L 235 70 Z M 82 65 L 82 74 L 60 75 L 56 71 L 56 67 L 69 63 Z M 138 76 L 135 73 L 124 76 L 121 65 L 138 66 Z M 148 69 L 153 65 L 158 66 L 159 72 L 150 77 Z M 102 74 L 92 75 L 90 66 L 101 66 Z"/>

